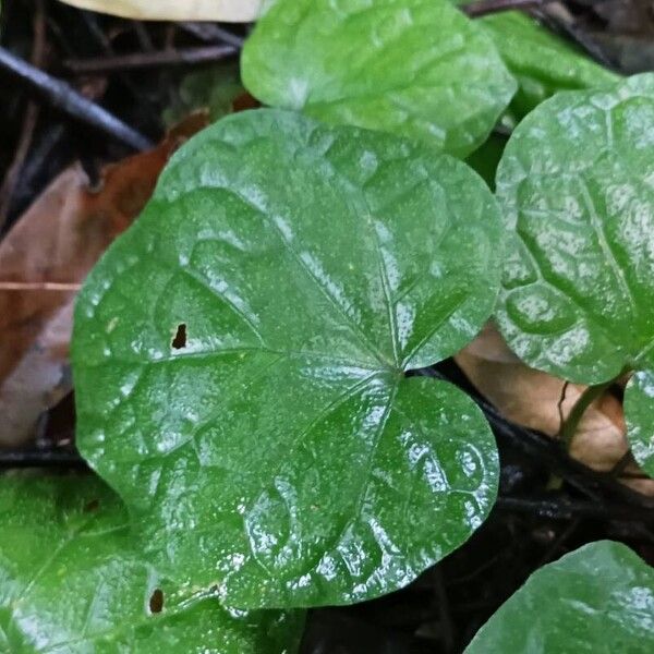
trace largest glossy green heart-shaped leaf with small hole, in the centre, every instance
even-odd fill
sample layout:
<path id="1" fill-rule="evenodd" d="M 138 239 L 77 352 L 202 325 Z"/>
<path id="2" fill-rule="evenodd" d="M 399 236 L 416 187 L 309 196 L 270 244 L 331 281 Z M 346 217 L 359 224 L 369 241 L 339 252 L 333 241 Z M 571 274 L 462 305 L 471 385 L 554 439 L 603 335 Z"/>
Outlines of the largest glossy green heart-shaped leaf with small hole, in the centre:
<path id="1" fill-rule="evenodd" d="M 247 608 L 373 597 L 461 545 L 494 439 L 404 371 L 481 328 L 500 237 L 477 175 L 389 134 L 259 110 L 185 145 L 75 319 L 80 447 L 147 550 Z"/>

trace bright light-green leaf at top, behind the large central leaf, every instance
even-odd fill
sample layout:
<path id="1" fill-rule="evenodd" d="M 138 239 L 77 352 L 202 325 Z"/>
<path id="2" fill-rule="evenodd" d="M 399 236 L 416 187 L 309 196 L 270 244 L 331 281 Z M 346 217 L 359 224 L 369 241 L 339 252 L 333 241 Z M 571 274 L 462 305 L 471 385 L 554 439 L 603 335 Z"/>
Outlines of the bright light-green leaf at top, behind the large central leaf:
<path id="1" fill-rule="evenodd" d="M 277 0 L 241 65 L 264 104 L 459 157 L 486 140 L 516 90 L 491 39 L 446 0 Z"/>

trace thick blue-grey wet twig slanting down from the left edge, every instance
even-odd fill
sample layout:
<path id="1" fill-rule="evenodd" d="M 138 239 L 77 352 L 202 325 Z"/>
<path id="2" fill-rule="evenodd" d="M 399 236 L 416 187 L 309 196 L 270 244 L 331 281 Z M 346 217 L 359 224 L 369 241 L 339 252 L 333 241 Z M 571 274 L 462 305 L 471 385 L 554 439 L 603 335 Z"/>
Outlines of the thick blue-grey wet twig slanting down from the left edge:
<path id="1" fill-rule="evenodd" d="M 78 94 L 72 86 L 39 71 L 4 48 L 0 48 L 0 69 L 13 74 L 38 93 L 49 105 L 69 116 L 101 130 L 134 149 L 142 150 L 152 147 L 153 144 L 143 134 Z"/>

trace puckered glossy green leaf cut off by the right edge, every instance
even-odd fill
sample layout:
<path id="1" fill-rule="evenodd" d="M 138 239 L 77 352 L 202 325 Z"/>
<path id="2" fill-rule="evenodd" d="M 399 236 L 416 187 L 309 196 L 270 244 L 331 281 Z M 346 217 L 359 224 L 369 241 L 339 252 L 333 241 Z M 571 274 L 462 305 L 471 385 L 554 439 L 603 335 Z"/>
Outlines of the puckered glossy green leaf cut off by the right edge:
<path id="1" fill-rule="evenodd" d="M 560 94 L 511 136 L 497 172 L 509 232 L 497 317 L 531 366 L 580 384 L 654 370 L 653 155 L 653 74 Z M 627 388 L 628 436 L 652 471 L 643 389 Z"/>

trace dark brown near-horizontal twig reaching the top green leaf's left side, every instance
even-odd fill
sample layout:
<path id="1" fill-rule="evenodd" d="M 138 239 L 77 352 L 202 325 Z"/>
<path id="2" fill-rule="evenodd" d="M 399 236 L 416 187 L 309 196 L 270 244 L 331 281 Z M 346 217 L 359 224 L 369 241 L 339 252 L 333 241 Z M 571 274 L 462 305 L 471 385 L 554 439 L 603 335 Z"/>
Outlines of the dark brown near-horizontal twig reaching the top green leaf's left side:
<path id="1" fill-rule="evenodd" d="M 107 75 L 124 71 L 218 62 L 237 53 L 238 49 L 233 46 L 206 46 L 94 59 L 69 59 L 63 65 L 75 75 Z"/>

